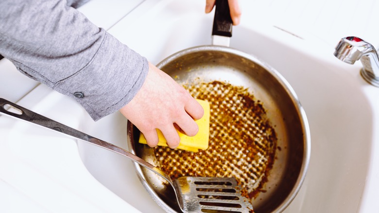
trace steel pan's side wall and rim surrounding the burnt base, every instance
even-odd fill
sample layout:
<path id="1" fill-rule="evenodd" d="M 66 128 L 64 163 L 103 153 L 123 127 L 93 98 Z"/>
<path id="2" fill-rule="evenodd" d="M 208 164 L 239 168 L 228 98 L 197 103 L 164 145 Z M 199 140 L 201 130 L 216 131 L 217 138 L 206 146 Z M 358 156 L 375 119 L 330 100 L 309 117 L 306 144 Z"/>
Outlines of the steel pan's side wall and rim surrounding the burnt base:
<path id="1" fill-rule="evenodd" d="M 310 158 L 307 119 L 285 79 L 253 56 L 220 46 L 190 48 L 168 57 L 157 67 L 182 85 L 220 81 L 242 86 L 262 104 L 275 130 L 275 160 L 266 174 L 266 182 L 251 202 L 258 213 L 283 211 L 298 192 Z M 139 144 L 138 137 L 138 129 L 128 123 L 130 151 L 158 164 L 154 148 Z M 180 212 L 175 195 L 170 187 L 166 188 L 165 181 L 135 166 L 138 177 L 155 201 L 167 212 Z"/>

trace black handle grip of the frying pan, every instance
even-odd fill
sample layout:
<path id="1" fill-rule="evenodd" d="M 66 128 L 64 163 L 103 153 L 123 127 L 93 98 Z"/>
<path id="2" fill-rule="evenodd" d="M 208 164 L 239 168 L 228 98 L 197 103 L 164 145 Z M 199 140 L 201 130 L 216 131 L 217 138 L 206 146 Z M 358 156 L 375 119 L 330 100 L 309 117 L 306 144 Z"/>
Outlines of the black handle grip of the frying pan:
<path id="1" fill-rule="evenodd" d="M 230 17 L 228 0 L 216 0 L 212 35 L 232 36 L 233 20 Z"/>

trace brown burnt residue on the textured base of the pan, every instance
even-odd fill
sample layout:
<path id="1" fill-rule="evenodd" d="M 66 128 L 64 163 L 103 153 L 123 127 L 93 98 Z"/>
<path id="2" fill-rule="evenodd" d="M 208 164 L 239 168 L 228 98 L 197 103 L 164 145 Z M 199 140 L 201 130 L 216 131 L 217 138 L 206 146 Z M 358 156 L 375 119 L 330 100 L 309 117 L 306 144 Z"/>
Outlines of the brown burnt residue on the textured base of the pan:
<path id="1" fill-rule="evenodd" d="M 155 147 L 157 166 L 173 179 L 235 177 L 249 199 L 264 192 L 275 159 L 276 133 L 262 103 L 247 89 L 224 82 L 184 87 L 210 104 L 209 147 L 197 153 Z"/>

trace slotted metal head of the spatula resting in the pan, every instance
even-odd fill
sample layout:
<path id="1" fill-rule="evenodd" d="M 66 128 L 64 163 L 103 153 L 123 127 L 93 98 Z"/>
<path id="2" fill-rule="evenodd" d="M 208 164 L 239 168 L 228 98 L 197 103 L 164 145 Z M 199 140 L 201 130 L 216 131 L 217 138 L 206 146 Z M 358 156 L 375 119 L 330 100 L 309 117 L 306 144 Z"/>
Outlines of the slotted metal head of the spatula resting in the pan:
<path id="1" fill-rule="evenodd" d="M 173 186 L 183 212 L 254 212 L 234 177 L 179 177 Z"/>

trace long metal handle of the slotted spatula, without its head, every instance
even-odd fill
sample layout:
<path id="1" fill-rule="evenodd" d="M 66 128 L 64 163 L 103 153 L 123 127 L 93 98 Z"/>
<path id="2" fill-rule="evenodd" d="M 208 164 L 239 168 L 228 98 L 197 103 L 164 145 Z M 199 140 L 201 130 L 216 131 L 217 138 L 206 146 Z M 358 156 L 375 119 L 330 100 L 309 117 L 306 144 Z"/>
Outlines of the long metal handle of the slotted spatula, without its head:
<path id="1" fill-rule="evenodd" d="M 62 134 L 68 135 L 70 137 L 80 139 L 82 141 L 89 142 L 97 146 L 100 146 L 104 149 L 121 154 L 129 158 L 130 160 L 133 160 L 137 162 L 138 164 L 150 169 L 151 171 L 165 178 L 169 182 L 172 182 L 171 178 L 167 174 L 165 174 L 163 171 L 161 171 L 160 169 L 156 168 L 154 165 L 146 162 L 145 160 L 139 158 L 138 156 L 132 154 L 131 152 L 126 151 L 125 149 L 121 147 L 118 147 L 116 145 L 113 145 L 112 143 L 105 142 L 95 137 L 92 137 L 90 135 L 87 135 L 86 133 L 83 133 L 79 130 L 71 128 L 65 124 L 61 124 L 56 121 L 53 121 L 50 118 L 44 117 L 36 112 L 33 112 L 22 106 L 18 106 L 17 104 L 14 104 L 2 98 L 0 98 L 0 112 L 4 115 L 8 115 L 13 118 L 18 118 L 32 124 L 37 124 L 39 126 L 46 127 L 48 129 L 55 130 Z"/>

